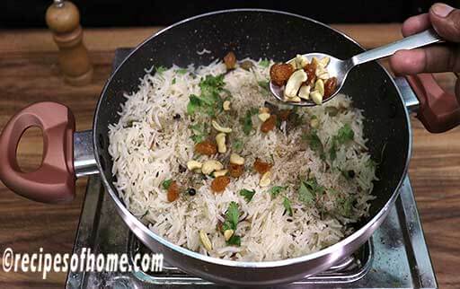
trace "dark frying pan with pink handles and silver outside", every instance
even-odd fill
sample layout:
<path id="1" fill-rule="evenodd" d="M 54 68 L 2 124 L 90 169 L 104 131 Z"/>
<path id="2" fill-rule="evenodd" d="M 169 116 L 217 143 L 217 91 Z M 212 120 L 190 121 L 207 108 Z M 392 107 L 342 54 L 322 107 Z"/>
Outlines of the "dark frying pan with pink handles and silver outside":
<path id="1" fill-rule="evenodd" d="M 208 49 L 210 53 L 197 52 Z M 72 112 L 55 102 L 40 102 L 22 109 L 0 136 L 0 179 L 23 197 L 40 202 L 70 201 L 75 176 L 99 173 L 119 215 L 151 250 L 163 253 L 173 266 L 194 276 L 227 285 L 276 285 L 311 276 L 348 257 L 383 222 L 408 168 L 411 155 L 409 111 L 432 132 L 455 127 L 460 121 L 456 98 L 443 92 L 429 74 L 397 79 L 377 63 L 359 66 L 349 74 L 342 92 L 352 97 L 366 118 L 364 132 L 374 160 L 381 159 L 370 215 L 356 231 L 323 250 L 298 258 L 269 262 L 223 260 L 186 250 L 164 240 L 131 215 L 118 197 L 108 153 L 108 127 L 117 123 L 124 92 L 137 90 L 144 69 L 151 66 L 208 65 L 233 50 L 238 58 L 267 57 L 278 61 L 299 52 L 321 51 L 348 58 L 363 49 L 339 31 L 292 13 L 239 9 L 207 13 L 178 22 L 140 44 L 106 83 L 93 120 L 93 130 L 75 133 Z M 411 90 L 411 87 L 413 92 Z M 416 92 L 417 97 L 415 97 Z M 40 127 L 44 154 L 40 169 L 22 172 L 16 147 L 28 127 Z"/>

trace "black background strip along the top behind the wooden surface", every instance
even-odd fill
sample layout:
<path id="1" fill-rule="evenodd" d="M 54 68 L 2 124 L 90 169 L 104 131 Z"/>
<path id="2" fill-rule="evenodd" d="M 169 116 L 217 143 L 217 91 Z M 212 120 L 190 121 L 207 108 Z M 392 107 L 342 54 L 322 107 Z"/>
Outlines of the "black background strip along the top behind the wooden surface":
<path id="1" fill-rule="evenodd" d="M 0 28 L 45 27 L 45 12 L 52 1 L 0 0 Z M 303 0 L 303 1 L 148 1 L 74 0 L 84 27 L 169 25 L 181 19 L 227 8 L 267 8 L 303 14 L 320 22 L 403 22 L 427 12 L 429 0 Z M 460 6 L 460 0 L 447 1 Z"/>

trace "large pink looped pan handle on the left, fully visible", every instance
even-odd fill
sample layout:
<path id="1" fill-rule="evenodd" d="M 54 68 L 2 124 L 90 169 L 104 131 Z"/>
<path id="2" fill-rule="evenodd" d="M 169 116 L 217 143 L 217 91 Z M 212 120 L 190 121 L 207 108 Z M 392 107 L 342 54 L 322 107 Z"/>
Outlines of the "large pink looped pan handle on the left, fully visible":
<path id="1" fill-rule="evenodd" d="M 16 149 L 24 131 L 40 127 L 43 162 L 37 171 L 21 171 Z M 38 102 L 19 111 L 0 136 L 0 180 L 22 197 L 44 203 L 64 203 L 75 197 L 75 118 L 56 102 Z"/>

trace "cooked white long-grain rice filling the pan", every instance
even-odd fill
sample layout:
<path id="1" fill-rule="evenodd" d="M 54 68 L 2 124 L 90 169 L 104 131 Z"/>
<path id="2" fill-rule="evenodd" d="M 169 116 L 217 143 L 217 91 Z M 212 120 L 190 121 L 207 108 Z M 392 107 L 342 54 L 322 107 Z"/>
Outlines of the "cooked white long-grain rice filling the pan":
<path id="1" fill-rule="evenodd" d="M 251 71 L 236 68 L 225 76 L 225 88 L 232 93 L 232 109 L 238 116 L 244 116 L 248 108 L 261 108 L 264 101 L 274 102 L 258 84 L 268 80 L 269 67 L 251 61 L 254 64 Z M 350 125 L 354 141 L 339 147 L 333 166 L 355 171 L 354 179 L 346 180 L 340 170 L 331 169 L 330 162 L 326 164 L 308 146 L 301 146 L 305 144 L 302 127 L 263 134 L 259 129 L 261 120 L 254 116 L 251 136 L 243 134 L 238 119 L 234 119 L 230 134 L 245 143 L 240 153 L 245 157 L 243 175 L 232 179 L 222 194 L 211 191 L 212 179 L 208 178 L 202 180 L 195 196 L 183 193 L 177 200 L 168 202 L 162 182 L 180 178 L 184 172 L 179 171 L 179 164 L 186 167 L 193 157 L 197 159 L 195 144 L 190 139 L 192 122 L 186 114 L 189 95 L 199 94 L 200 76 L 226 72 L 226 66 L 217 61 L 198 68 L 189 66 L 187 74 L 178 73 L 179 68 L 173 66 L 162 74 L 147 73 L 138 91 L 126 95 L 119 122 L 110 126 L 109 152 L 119 197 L 150 230 L 177 245 L 213 257 L 266 261 L 305 255 L 341 241 L 352 232 L 350 223 L 367 215 L 369 200 L 373 198 L 373 180 L 376 180 L 375 166 L 370 165 L 366 149 L 363 115 L 352 108 L 352 101 L 346 95 L 339 95 L 323 106 L 298 109 L 297 113 L 306 120 L 313 115 L 319 119 L 318 136 L 326 151 L 332 145 L 332 136 L 343 124 Z M 328 106 L 348 109 L 332 117 L 324 112 Z M 173 120 L 176 114 L 181 115 L 180 120 Z M 195 122 L 210 123 L 208 118 L 193 118 Z M 303 126 L 308 126 L 308 121 Z M 252 170 L 256 157 L 274 161 L 269 188 L 258 186 L 260 175 Z M 198 160 L 206 159 L 206 156 L 198 157 Z M 323 210 L 334 211 L 341 206 L 341 197 L 352 195 L 356 202 L 351 216 L 323 214 L 319 207 L 305 206 L 298 200 L 296 182 L 308 171 L 326 188 L 321 200 Z M 286 185 L 288 189 L 278 197 L 270 196 L 271 186 Z M 247 203 L 239 195 L 242 188 L 256 191 L 251 202 Z M 292 217 L 285 213 L 284 196 L 291 201 Z M 238 203 L 242 212 L 235 232 L 242 236 L 240 247 L 227 246 L 222 233 L 217 231 L 217 224 L 224 221 L 232 201 Z M 208 233 L 213 247 L 210 252 L 201 245 L 199 230 Z"/>

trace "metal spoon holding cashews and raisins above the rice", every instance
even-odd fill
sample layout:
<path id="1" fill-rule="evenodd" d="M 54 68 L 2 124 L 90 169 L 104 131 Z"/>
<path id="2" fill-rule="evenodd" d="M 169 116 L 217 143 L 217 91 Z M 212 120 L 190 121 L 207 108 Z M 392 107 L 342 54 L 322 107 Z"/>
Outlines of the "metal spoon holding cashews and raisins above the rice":
<path id="1" fill-rule="evenodd" d="M 347 60 L 341 60 L 336 57 L 332 57 L 330 55 L 318 52 L 305 54 L 304 57 L 306 57 L 308 61 L 311 61 L 313 57 L 316 57 L 317 59 L 322 59 L 323 57 L 331 58 L 329 65 L 326 67 L 326 69 L 331 76 L 337 77 L 337 86 L 335 92 L 333 92 L 330 97 L 328 97 L 327 99 L 323 99 L 324 103 L 326 101 L 332 100 L 332 98 L 335 95 L 337 95 L 337 93 L 341 90 L 341 87 L 343 86 L 343 83 L 345 83 L 345 79 L 347 78 L 347 75 L 349 74 L 351 68 L 363 63 L 367 63 L 372 60 L 392 56 L 394 52 L 398 50 L 420 48 L 440 41 L 444 40 L 439 37 L 436 31 L 429 29 L 427 31 L 423 31 L 418 34 L 414 34 L 404 39 L 398 40 L 396 42 L 387 44 L 385 46 L 367 50 Z M 284 87 L 278 86 L 270 82 L 270 91 L 279 101 L 285 101 L 283 95 L 283 88 Z M 302 100 L 300 102 L 287 101 L 287 103 L 295 106 L 316 105 L 314 101 L 305 100 Z"/>

